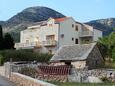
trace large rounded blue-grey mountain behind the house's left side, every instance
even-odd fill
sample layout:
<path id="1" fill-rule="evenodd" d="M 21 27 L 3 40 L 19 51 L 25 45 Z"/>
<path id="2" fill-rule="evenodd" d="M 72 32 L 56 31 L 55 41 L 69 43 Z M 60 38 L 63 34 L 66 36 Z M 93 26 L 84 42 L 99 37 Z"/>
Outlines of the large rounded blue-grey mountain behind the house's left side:
<path id="1" fill-rule="evenodd" d="M 0 21 L 4 32 L 10 32 L 15 41 L 19 41 L 19 32 L 26 29 L 28 24 L 47 20 L 49 17 L 61 18 L 63 14 L 47 7 L 30 7 L 13 16 L 7 21 Z M 16 36 L 17 35 L 17 36 Z"/>

